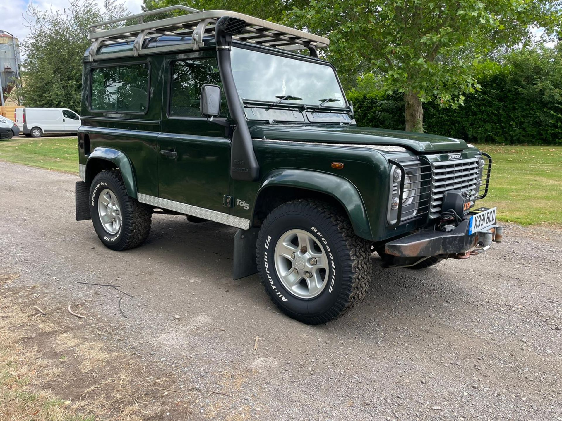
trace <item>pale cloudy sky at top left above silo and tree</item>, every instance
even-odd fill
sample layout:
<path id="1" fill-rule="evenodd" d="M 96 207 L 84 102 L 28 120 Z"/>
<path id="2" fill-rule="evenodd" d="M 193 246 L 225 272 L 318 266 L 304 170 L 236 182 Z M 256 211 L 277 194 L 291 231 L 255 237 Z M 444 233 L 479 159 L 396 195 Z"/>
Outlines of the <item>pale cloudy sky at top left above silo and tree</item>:
<path id="1" fill-rule="evenodd" d="M 103 0 L 96 0 L 99 4 Z M 25 10 L 31 0 L 0 0 L 0 30 L 8 31 L 16 38 L 23 40 L 29 34 L 29 28 L 25 26 L 25 20 L 22 15 L 25 15 Z M 33 4 L 39 6 L 41 9 L 62 10 L 69 3 L 68 0 L 34 0 Z M 125 0 L 125 6 L 131 13 L 140 13 L 140 5 L 142 0 Z M 25 54 L 22 51 L 22 56 Z"/>

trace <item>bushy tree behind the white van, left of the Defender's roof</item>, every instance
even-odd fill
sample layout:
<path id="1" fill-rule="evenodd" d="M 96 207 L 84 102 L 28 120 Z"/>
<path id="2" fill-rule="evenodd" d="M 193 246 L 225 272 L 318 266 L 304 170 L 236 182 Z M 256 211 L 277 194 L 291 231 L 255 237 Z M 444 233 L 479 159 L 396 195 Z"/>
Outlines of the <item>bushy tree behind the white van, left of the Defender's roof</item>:
<path id="1" fill-rule="evenodd" d="M 82 63 L 90 47 L 88 25 L 128 15 L 123 3 L 70 0 L 62 11 L 40 10 L 30 3 L 26 21 L 31 33 L 22 43 L 22 97 L 26 107 L 80 110 Z"/>

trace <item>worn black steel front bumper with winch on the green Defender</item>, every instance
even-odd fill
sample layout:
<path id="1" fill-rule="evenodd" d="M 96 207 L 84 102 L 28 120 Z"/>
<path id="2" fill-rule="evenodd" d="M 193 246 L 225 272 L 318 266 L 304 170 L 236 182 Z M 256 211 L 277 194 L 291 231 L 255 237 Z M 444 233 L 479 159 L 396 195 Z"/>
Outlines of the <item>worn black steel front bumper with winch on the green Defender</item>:
<path id="1" fill-rule="evenodd" d="M 503 228 L 492 225 L 472 235 L 468 232 L 469 219 L 467 218 L 450 232 L 426 229 L 387 242 L 384 251 L 398 257 L 459 256 L 472 250 L 475 252 L 487 250 L 492 242 L 501 242 Z"/>

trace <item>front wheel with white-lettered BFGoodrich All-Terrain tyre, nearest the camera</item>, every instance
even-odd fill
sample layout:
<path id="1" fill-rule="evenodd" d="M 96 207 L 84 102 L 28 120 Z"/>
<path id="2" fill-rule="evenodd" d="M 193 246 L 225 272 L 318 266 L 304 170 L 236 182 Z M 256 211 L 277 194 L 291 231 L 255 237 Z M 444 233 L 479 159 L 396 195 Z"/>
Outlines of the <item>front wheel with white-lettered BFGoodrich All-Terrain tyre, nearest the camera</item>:
<path id="1" fill-rule="evenodd" d="M 369 243 L 347 216 L 308 199 L 284 203 L 265 218 L 256 257 L 270 298 L 307 324 L 345 314 L 365 296 L 372 272 Z"/>

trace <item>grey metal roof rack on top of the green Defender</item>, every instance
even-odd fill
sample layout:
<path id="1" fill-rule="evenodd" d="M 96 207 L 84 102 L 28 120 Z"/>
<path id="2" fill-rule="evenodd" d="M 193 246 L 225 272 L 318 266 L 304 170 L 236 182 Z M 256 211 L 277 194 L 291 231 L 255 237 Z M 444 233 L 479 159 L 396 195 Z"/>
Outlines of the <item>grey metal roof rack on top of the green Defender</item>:
<path id="1" fill-rule="evenodd" d="M 183 11 L 187 12 L 187 14 L 152 22 L 143 22 L 143 19 L 147 16 L 174 11 Z M 232 37 L 234 40 L 265 45 L 285 51 L 309 49 L 311 54 L 315 56 L 318 56 L 315 54 L 316 48 L 328 47 L 330 44 L 330 40 L 323 36 L 309 34 L 304 31 L 289 28 L 288 26 L 243 15 L 242 13 L 227 10 L 199 11 L 187 6 L 169 6 L 121 19 L 98 22 L 88 26 L 90 29 L 88 39 L 92 41 L 92 47 L 89 49 L 89 60 L 140 56 L 142 54 L 153 54 L 156 52 L 183 51 L 189 49 L 197 50 L 204 45 L 203 36 L 215 35 L 215 24 L 217 20 L 223 16 L 235 17 L 246 23 L 242 32 Z M 138 23 L 130 25 L 132 23 L 130 21 L 132 20 L 137 20 Z M 125 25 L 129 24 L 129 26 L 121 26 L 113 29 L 100 28 L 107 25 L 114 26 L 119 22 Z M 191 36 L 191 44 L 165 45 L 163 47 L 143 49 L 144 40 L 160 35 Z M 133 43 L 133 50 L 97 54 L 100 47 L 117 43 Z"/>

